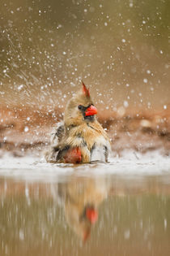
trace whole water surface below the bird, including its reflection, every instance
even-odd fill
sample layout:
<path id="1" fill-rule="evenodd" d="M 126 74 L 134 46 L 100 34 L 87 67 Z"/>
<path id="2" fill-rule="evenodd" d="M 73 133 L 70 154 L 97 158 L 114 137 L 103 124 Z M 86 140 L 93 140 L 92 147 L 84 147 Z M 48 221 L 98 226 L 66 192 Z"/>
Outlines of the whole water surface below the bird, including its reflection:
<path id="1" fill-rule="evenodd" d="M 170 255 L 168 158 L 162 168 L 153 159 L 35 160 L 1 160 L 1 255 Z"/>

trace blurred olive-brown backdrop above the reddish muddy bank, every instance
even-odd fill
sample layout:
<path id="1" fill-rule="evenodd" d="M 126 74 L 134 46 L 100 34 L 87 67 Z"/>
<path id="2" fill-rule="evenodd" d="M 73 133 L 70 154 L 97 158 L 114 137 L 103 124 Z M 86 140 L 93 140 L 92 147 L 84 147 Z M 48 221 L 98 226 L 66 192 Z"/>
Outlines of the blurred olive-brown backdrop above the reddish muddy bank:
<path id="1" fill-rule="evenodd" d="M 0 102 L 62 109 L 83 79 L 103 110 L 164 111 L 169 10 L 168 0 L 1 0 Z"/>

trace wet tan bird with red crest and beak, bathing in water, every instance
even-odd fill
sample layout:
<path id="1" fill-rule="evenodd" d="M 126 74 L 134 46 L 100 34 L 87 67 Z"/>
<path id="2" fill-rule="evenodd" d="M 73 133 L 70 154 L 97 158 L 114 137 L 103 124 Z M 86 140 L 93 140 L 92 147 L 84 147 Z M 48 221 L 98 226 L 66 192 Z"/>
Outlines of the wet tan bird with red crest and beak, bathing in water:
<path id="1" fill-rule="evenodd" d="M 108 161 L 110 142 L 104 128 L 96 120 L 96 107 L 89 89 L 83 89 L 68 102 L 64 123 L 58 124 L 47 161 L 60 163 L 90 163 Z"/>

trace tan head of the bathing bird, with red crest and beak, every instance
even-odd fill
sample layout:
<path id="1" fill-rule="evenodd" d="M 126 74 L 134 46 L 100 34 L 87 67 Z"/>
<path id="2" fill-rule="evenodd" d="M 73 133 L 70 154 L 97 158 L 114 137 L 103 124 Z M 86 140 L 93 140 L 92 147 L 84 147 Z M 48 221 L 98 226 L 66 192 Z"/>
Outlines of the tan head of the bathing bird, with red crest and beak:
<path id="1" fill-rule="evenodd" d="M 97 110 L 91 101 L 89 89 L 83 83 L 82 89 L 70 99 L 66 106 L 65 124 L 69 126 L 93 122 L 96 119 L 96 114 Z"/>

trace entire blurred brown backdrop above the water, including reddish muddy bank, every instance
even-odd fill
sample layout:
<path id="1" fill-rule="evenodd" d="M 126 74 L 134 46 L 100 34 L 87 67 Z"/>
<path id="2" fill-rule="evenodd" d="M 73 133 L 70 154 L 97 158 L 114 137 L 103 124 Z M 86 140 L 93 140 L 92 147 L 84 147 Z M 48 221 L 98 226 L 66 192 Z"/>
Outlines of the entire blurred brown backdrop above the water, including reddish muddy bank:
<path id="1" fill-rule="evenodd" d="M 169 0 L 1 0 L 0 149 L 44 149 L 83 79 L 116 154 L 169 155 L 169 10 Z"/>

